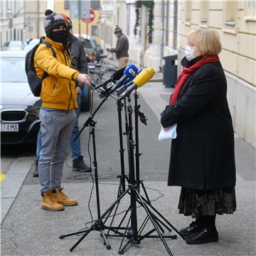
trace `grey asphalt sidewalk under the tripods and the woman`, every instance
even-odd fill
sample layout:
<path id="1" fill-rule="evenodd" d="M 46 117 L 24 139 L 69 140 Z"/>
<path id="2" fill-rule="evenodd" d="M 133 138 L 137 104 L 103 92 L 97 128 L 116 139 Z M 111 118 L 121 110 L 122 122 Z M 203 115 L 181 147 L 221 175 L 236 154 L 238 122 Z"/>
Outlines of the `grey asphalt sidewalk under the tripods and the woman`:
<path id="1" fill-rule="evenodd" d="M 144 185 L 153 206 L 175 228 L 180 229 L 188 225 L 191 218 L 178 214 L 177 205 L 180 188 L 166 186 L 166 166 L 168 165 L 166 159 L 167 156 L 169 157 L 169 142 L 157 144 L 154 140 L 159 132 L 159 113 L 163 110 L 163 106 L 169 102 L 171 90 L 158 82 L 150 82 L 138 90 L 142 95 L 139 100 L 143 103 L 143 109 L 149 118 L 148 126 L 142 127 L 140 133 L 142 139 L 140 144 L 143 146 L 143 144 L 149 143 L 142 150 L 141 167 L 142 179 L 144 179 Z M 107 104 L 99 114 L 97 119 L 99 124 L 96 128 L 97 161 L 101 171 L 100 178 L 105 176 L 105 173 L 102 174 L 105 169 L 112 174 L 113 170 L 117 170 L 114 164 L 119 166 L 119 152 L 115 151 L 116 144 L 118 145 L 117 132 L 110 134 L 108 138 L 105 137 L 106 127 L 110 124 L 111 118 L 107 114 L 112 112 L 113 108 L 111 107 L 115 107 L 114 102 L 107 102 Z M 103 119 L 104 117 L 105 119 Z M 85 116 L 82 116 L 82 118 L 85 118 Z M 114 141 L 114 138 L 117 142 Z M 111 144 L 105 142 L 107 139 L 111 139 Z M 154 143 L 150 142 L 152 140 L 154 140 Z M 107 145 L 110 145 L 110 147 L 107 148 Z M 110 159 L 105 152 L 100 150 L 101 148 L 105 148 L 109 151 L 109 154 L 113 152 L 117 155 L 117 158 Z M 148 155 L 146 150 L 155 153 Z M 235 154 L 238 209 L 233 215 L 217 216 L 219 242 L 206 245 L 186 245 L 186 242 L 180 237 L 176 240 L 166 239 L 173 255 L 255 255 L 255 149 L 239 137 L 235 137 Z M 7 174 L 4 181 L 1 182 L 1 208 L 4 201 L 11 201 L 11 203 L 9 202 L 9 211 L 1 222 L 1 255 L 118 255 L 117 252 L 122 239 L 109 238 L 108 242 L 112 249 L 107 250 L 105 245 L 102 245 L 103 240 L 97 231 L 92 231 L 87 235 L 73 252 L 69 251 L 70 247 L 80 237 L 73 235 L 63 240 L 58 238 L 59 235 L 77 232 L 87 227 L 90 228 L 91 224 L 88 222 L 91 221 L 91 216 L 87 207 L 92 189 L 90 176 L 80 174 L 74 176 L 72 171 L 65 166 L 63 186 L 68 195 L 78 198 L 79 205 L 66 207 L 65 210 L 60 212 L 49 212 L 40 208 L 41 198 L 38 196 L 37 180 L 31 178 L 33 171 L 33 166 L 31 167 L 32 159 L 23 159 L 22 161 L 23 165 L 19 162 L 14 163 L 12 167 L 13 176 Z M 26 164 L 24 164 L 24 161 L 26 161 Z M 154 165 L 156 161 L 159 161 L 159 164 Z M 164 164 L 162 164 L 163 161 Z M 27 163 L 30 163 L 29 166 L 27 166 Z M 22 174 L 21 171 L 18 171 L 20 169 L 23 169 Z M 18 183 L 11 183 L 15 180 L 14 174 L 20 176 L 17 179 Z M 67 176 L 68 178 L 66 178 Z M 6 184 L 8 180 L 10 183 Z M 117 188 L 118 183 L 115 176 L 109 180 L 107 178 L 100 179 L 101 213 L 104 213 L 116 200 Z M 6 199 L 3 200 L 3 196 Z M 93 218 L 97 218 L 95 190 L 92 192 L 90 206 Z M 127 210 L 128 206 L 129 198 L 124 198 L 117 212 Z M 3 214 L 3 210 L 1 212 Z M 137 216 L 139 223 L 142 223 L 141 221 L 145 217 L 142 208 L 137 208 Z M 119 223 L 120 218 L 122 218 L 122 215 L 117 215 L 114 222 Z M 127 224 L 127 221 L 125 221 L 125 224 Z M 146 230 L 149 230 L 149 228 L 151 228 L 151 225 L 146 226 Z M 107 233 L 107 230 L 105 230 L 105 233 Z M 171 233 L 175 234 L 174 231 Z M 140 245 L 129 245 L 124 255 L 153 256 L 168 254 L 160 239 L 145 238 Z"/>

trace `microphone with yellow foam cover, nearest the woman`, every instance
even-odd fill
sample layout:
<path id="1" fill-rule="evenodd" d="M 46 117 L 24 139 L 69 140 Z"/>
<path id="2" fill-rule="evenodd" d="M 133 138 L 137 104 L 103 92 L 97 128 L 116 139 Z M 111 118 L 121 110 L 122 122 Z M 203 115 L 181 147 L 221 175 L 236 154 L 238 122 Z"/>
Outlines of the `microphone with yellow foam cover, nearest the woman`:
<path id="1" fill-rule="evenodd" d="M 132 85 L 130 85 L 129 88 L 122 93 L 121 99 L 130 95 L 130 93 L 137 87 L 141 87 L 146 82 L 148 82 L 153 77 L 154 74 L 155 74 L 155 71 L 153 68 L 151 67 L 144 68 L 141 71 L 141 73 L 139 73 L 139 75 L 137 75 L 137 77 L 134 78 L 134 80 L 132 81 Z"/>

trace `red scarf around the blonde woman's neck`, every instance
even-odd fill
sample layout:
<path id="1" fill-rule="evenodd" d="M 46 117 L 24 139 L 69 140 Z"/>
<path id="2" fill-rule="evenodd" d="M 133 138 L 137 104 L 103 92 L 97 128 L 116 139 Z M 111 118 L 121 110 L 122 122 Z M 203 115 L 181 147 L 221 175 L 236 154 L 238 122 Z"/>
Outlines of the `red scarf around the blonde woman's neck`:
<path id="1" fill-rule="evenodd" d="M 205 56 L 201 58 L 201 60 L 198 60 L 195 64 L 191 65 L 189 68 L 182 67 L 182 71 L 178 75 L 178 81 L 176 82 L 174 93 L 171 96 L 170 105 L 174 105 L 174 103 L 177 101 L 178 93 L 181 91 L 182 85 L 191 74 L 193 74 L 196 70 L 198 70 L 198 68 L 201 68 L 201 66 L 206 63 L 215 63 L 218 61 L 218 55 Z"/>

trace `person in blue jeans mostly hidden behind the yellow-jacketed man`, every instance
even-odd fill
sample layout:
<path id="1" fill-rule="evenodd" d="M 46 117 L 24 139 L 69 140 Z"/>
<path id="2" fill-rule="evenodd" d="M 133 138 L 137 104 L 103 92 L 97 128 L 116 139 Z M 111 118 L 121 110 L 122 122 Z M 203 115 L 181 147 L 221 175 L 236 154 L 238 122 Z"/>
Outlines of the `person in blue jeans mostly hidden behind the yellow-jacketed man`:
<path id="1" fill-rule="evenodd" d="M 83 49 L 82 42 L 73 35 L 73 33 L 70 32 L 72 29 L 72 21 L 68 16 L 65 14 L 60 14 L 65 20 L 66 26 L 68 28 L 68 48 L 71 52 L 71 68 L 78 70 L 82 74 L 88 73 L 87 68 L 87 58 L 85 56 L 85 50 Z M 75 126 L 73 128 L 72 137 L 70 140 L 70 146 L 71 146 L 71 157 L 73 159 L 73 171 L 82 171 L 82 172 L 88 172 L 91 171 L 90 166 L 87 166 L 85 164 L 85 161 L 83 160 L 83 156 L 81 154 L 81 146 L 80 146 L 80 137 L 78 139 L 75 139 L 79 133 L 79 125 L 78 120 L 80 116 L 80 110 L 81 110 L 81 94 L 83 87 L 85 85 L 81 82 L 76 81 L 75 82 L 75 90 L 77 92 L 77 102 L 78 102 L 78 110 L 76 111 L 77 117 L 75 119 Z M 41 151 L 41 129 L 38 132 L 38 139 L 37 139 L 37 145 L 36 145 L 36 168 L 33 171 L 33 176 L 38 177 L 38 159 L 40 158 L 40 151 Z"/>

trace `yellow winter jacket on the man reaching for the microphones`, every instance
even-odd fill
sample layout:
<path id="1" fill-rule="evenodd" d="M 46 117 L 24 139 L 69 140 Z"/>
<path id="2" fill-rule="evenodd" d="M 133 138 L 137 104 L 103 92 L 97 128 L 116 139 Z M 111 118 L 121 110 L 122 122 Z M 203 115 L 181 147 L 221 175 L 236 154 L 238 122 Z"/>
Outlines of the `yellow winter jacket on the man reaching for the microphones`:
<path id="1" fill-rule="evenodd" d="M 50 48 L 45 44 L 38 46 L 34 55 L 34 66 L 38 78 L 43 77 L 46 71 L 49 76 L 42 82 L 42 106 L 58 110 L 73 110 L 78 108 L 75 80 L 78 70 L 71 67 L 70 53 L 63 50 L 63 44 L 57 43 L 46 37 L 46 41 L 53 46 L 56 58 Z"/>

